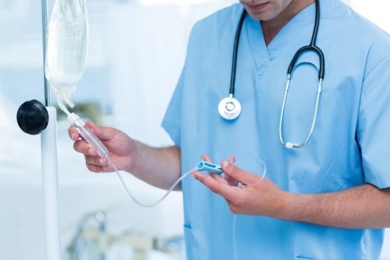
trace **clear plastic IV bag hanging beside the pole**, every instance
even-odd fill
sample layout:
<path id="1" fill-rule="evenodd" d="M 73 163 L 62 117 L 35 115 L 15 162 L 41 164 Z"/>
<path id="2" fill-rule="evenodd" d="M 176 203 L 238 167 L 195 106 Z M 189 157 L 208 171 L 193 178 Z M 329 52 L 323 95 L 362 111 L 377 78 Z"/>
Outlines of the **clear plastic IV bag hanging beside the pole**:
<path id="1" fill-rule="evenodd" d="M 56 0 L 49 22 L 45 75 L 59 107 L 69 113 L 70 95 L 84 73 L 88 53 L 88 14 L 85 0 Z"/>

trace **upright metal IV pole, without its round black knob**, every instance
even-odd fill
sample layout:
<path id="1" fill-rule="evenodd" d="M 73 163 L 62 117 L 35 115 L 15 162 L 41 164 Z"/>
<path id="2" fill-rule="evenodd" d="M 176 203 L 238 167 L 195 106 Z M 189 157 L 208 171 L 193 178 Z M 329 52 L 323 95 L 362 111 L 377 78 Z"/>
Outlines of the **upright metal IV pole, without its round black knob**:
<path id="1" fill-rule="evenodd" d="M 61 260 L 61 234 L 58 199 L 57 167 L 57 115 L 51 106 L 50 88 L 45 76 L 46 48 L 48 42 L 48 2 L 42 0 L 42 31 L 45 106 L 49 114 L 48 125 L 41 133 L 42 190 L 45 221 L 46 260 Z"/>

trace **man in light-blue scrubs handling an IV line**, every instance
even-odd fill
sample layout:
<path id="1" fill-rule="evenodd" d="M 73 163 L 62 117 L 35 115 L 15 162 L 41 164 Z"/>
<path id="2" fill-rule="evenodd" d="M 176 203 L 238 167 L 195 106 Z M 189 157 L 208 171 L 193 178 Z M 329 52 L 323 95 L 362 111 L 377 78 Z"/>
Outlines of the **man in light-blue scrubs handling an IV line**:
<path id="1" fill-rule="evenodd" d="M 200 156 L 221 162 L 223 177 L 192 172 L 178 187 L 188 259 L 379 258 L 390 227 L 390 38 L 339 0 L 320 7 L 325 77 L 303 148 L 281 145 L 279 116 L 287 68 L 313 33 L 314 0 L 240 0 L 194 25 L 163 121 L 175 146 L 149 147 L 88 122 L 119 169 L 157 187 L 168 189 Z M 244 8 L 235 90 L 242 113 L 226 120 L 217 107 L 228 96 Z M 313 119 L 318 56 L 307 52 L 298 64 L 282 131 L 292 143 L 305 140 Z M 74 128 L 69 135 L 91 171 L 112 171 Z M 237 183 L 255 183 L 258 172 L 232 163 L 248 157 L 262 159 L 267 173 L 243 189 Z"/>

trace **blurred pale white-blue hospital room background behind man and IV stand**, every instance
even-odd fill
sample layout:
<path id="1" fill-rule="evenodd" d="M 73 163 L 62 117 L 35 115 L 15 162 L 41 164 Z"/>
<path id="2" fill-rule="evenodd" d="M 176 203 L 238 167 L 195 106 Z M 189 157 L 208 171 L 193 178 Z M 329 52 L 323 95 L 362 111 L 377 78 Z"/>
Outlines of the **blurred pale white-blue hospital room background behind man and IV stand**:
<path id="1" fill-rule="evenodd" d="M 87 0 L 85 73 L 72 101 L 83 119 L 119 127 L 153 146 L 171 145 L 160 123 L 185 59 L 194 22 L 238 0 Z M 390 32 L 387 0 L 344 0 Z M 49 16 L 54 0 L 48 0 Z M 41 147 L 16 122 L 25 101 L 44 102 L 41 3 L 0 0 L 0 258 L 45 258 Z M 227 88 L 226 88 L 227 91 Z M 52 95 L 52 105 L 56 101 Z M 135 204 L 115 174 L 93 174 L 72 149 L 58 112 L 63 260 L 183 260 L 180 192 L 152 208 Z M 125 178 L 152 203 L 165 191 Z M 386 231 L 381 260 L 390 260 Z"/>

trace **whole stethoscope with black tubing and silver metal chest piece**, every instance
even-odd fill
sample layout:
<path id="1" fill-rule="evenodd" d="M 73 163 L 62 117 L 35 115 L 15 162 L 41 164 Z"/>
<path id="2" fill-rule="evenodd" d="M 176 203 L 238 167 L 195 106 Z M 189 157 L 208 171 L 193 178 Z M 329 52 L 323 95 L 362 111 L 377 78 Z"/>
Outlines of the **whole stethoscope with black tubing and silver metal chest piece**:
<path id="1" fill-rule="evenodd" d="M 234 44 L 234 48 L 233 48 L 233 59 L 232 59 L 232 68 L 231 68 L 229 97 L 222 99 L 218 104 L 219 114 L 227 120 L 236 119 L 241 113 L 241 104 L 237 99 L 235 99 L 233 97 L 233 95 L 235 92 L 235 78 L 236 78 L 238 46 L 239 46 L 241 28 L 243 26 L 246 13 L 247 12 L 244 9 L 244 11 L 240 17 L 239 25 L 238 25 L 238 28 L 236 31 L 235 44 Z M 292 60 L 290 62 L 290 66 L 288 67 L 288 70 L 287 70 L 287 81 L 286 81 L 286 85 L 285 85 L 285 89 L 284 89 L 284 97 L 283 97 L 282 109 L 281 109 L 280 119 L 279 119 L 279 139 L 280 139 L 280 142 L 282 143 L 282 145 L 284 145 L 286 148 L 302 148 L 303 146 L 305 146 L 307 144 L 307 142 L 309 141 L 311 135 L 313 134 L 314 125 L 316 123 L 318 104 L 320 101 L 320 94 L 321 94 L 321 89 L 322 89 L 322 81 L 324 79 L 324 67 L 325 67 L 324 54 L 322 53 L 321 49 L 316 46 L 319 24 L 320 24 L 320 4 L 319 4 L 319 0 L 316 0 L 316 20 L 315 20 L 315 24 L 314 24 L 313 35 L 311 36 L 310 45 L 300 48 L 295 53 L 294 57 L 292 58 Z M 288 93 L 288 89 L 290 86 L 290 80 L 292 77 L 292 72 L 294 70 L 295 63 L 298 60 L 299 56 L 305 51 L 314 51 L 315 53 L 317 53 L 317 55 L 320 58 L 320 69 L 318 70 L 319 84 L 318 84 L 318 91 L 317 91 L 317 98 L 316 98 L 316 106 L 315 106 L 313 121 L 311 122 L 310 132 L 309 132 L 306 140 L 302 144 L 295 144 L 292 142 L 285 142 L 283 140 L 283 137 L 282 137 L 283 116 L 284 116 L 284 110 L 285 110 L 285 106 L 286 106 L 287 93 Z"/>

